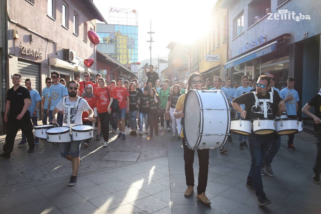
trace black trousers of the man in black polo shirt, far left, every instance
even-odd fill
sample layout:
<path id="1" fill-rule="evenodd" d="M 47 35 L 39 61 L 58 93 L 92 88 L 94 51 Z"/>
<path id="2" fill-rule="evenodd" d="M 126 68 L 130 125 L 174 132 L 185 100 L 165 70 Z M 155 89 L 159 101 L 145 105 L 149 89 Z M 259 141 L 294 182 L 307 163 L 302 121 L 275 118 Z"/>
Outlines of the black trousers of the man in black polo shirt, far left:
<path id="1" fill-rule="evenodd" d="M 5 144 L 3 146 L 3 151 L 9 151 L 10 153 L 13 150 L 14 139 L 16 138 L 17 132 L 19 129 L 27 137 L 27 142 L 29 146 L 35 146 L 35 138 L 32 133 L 32 123 L 30 119 L 30 113 L 27 111 L 21 120 L 17 120 L 16 117 L 8 117 L 7 122 L 7 136 L 5 137 Z"/>

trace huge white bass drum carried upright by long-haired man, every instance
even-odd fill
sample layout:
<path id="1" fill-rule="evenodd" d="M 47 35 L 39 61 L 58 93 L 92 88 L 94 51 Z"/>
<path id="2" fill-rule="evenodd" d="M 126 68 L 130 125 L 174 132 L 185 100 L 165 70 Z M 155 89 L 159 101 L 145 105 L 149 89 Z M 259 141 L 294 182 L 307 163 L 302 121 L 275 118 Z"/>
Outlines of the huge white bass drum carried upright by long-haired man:
<path id="1" fill-rule="evenodd" d="M 184 101 L 183 133 L 190 149 L 221 148 L 230 131 L 230 107 L 220 90 L 189 90 Z"/>

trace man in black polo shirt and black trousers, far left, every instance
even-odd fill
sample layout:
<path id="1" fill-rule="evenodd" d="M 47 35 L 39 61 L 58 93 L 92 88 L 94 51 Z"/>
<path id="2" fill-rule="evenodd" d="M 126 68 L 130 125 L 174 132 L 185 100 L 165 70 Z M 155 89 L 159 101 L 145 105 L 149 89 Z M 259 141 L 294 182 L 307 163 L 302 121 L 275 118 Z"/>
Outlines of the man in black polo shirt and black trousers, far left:
<path id="1" fill-rule="evenodd" d="M 30 93 L 21 86 L 21 75 L 12 76 L 13 87 L 7 92 L 7 103 L 5 105 L 4 121 L 7 123 L 7 136 L 0 156 L 10 158 L 13 151 L 14 139 L 19 128 L 25 133 L 29 145 L 28 153 L 32 153 L 35 148 L 35 139 L 32 133 L 32 123 L 28 107 L 30 105 Z"/>

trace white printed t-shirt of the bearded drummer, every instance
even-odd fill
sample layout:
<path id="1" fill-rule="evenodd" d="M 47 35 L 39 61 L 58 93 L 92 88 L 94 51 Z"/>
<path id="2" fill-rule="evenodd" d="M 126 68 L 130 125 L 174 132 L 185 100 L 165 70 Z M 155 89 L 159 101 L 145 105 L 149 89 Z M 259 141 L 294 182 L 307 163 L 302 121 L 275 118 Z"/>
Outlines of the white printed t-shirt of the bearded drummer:
<path id="1" fill-rule="evenodd" d="M 63 110 L 62 101 L 63 101 L 63 99 L 61 99 L 59 101 L 59 103 L 57 103 L 57 105 L 56 105 L 56 108 L 59 111 Z M 65 105 L 72 105 L 73 106 L 75 104 L 76 104 L 76 101 L 71 102 L 69 100 L 69 97 L 66 98 Z M 90 109 L 90 107 L 89 107 L 87 101 L 85 99 L 80 99 L 79 103 L 78 103 L 78 108 L 70 108 L 70 123 L 74 123 L 76 125 L 81 125 L 82 124 L 82 111 L 88 111 L 89 109 Z M 69 123 L 68 122 L 68 108 L 64 109 L 63 123 L 66 123 L 66 124 Z"/>

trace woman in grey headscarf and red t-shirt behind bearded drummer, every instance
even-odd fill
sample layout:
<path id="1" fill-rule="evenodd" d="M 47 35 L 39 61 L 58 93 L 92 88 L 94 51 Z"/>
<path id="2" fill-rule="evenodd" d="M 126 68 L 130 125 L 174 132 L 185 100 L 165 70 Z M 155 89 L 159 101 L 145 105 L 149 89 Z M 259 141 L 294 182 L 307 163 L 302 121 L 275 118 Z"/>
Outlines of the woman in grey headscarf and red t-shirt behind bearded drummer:
<path id="1" fill-rule="evenodd" d="M 85 92 L 82 93 L 81 97 L 87 101 L 90 108 L 94 110 L 94 122 L 97 121 L 97 100 L 94 94 L 92 93 L 93 88 L 92 85 L 87 85 Z M 88 118 L 88 113 L 86 111 L 82 112 L 82 124 L 92 126 L 92 121 L 85 119 Z M 88 143 L 90 139 L 85 140 L 85 147 L 88 147 Z"/>

